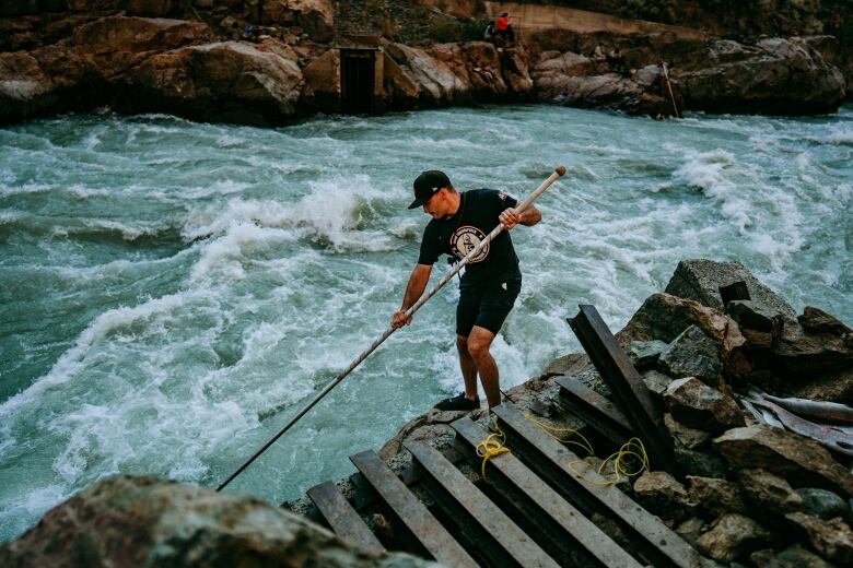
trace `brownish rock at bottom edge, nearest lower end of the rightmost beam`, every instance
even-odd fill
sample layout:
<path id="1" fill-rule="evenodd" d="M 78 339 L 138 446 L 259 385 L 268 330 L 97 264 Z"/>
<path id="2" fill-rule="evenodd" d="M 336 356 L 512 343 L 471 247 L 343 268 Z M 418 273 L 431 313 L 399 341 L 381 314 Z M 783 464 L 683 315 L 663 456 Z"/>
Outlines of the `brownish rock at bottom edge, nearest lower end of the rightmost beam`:
<path id="1" fill-rule="evenodd" d="M 749 517 L 726 513 L 711 530 L 697 540 L 697 548 L 714 560 L 731 563 L 735 558 L 764 547 L 772 534 Z"/>

